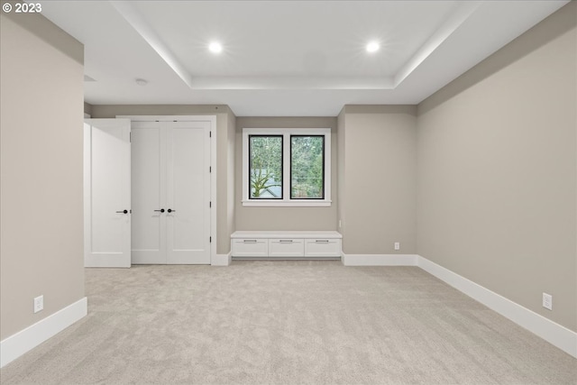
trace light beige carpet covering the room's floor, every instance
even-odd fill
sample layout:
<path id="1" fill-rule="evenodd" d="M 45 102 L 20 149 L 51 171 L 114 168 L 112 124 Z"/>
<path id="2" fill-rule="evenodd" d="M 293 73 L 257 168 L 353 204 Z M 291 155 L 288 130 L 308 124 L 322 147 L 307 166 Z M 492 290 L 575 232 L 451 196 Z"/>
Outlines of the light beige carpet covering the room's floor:
<path id="1" fill-rule="evenodd" d="M 574 384 L 577 360 L 413 267 L 87 269 L 88 316 L 2 383 Z"/>

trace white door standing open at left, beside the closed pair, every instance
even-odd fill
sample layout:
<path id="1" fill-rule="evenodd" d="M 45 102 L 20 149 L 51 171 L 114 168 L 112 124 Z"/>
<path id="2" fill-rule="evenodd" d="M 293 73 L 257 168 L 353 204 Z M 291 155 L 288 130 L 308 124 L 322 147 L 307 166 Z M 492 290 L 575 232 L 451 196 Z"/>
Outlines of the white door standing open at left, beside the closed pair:
<path id="1" fill-rule="evenodd" d="M 128 119 L 84 124 L 84 262 L 131 265 L 131 145 Z"/>

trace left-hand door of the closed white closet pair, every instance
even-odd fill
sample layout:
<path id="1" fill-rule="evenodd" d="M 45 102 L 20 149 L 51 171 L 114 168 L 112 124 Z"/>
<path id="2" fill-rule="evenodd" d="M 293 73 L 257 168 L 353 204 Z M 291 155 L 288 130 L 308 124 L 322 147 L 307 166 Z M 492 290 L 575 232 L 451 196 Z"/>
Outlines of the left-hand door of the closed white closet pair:
<path id="1" fill-rule="evenodd" d="M 133 122 L 133 263 L 166 263 L 166 130 Z"/>

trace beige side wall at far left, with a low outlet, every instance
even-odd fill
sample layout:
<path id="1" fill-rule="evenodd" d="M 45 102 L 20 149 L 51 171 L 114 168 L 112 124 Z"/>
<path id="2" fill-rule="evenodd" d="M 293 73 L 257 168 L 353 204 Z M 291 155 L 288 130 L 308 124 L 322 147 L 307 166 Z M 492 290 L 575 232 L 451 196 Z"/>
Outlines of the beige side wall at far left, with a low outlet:
<path id="1" fill-rule="evenodd" d="M 4 3 L 4 2 L 3 2 Z M 0 14 L 0 340 L 84 298 L 81 43 Z M 33 314 L 33 298 L 44 310 Z"/>

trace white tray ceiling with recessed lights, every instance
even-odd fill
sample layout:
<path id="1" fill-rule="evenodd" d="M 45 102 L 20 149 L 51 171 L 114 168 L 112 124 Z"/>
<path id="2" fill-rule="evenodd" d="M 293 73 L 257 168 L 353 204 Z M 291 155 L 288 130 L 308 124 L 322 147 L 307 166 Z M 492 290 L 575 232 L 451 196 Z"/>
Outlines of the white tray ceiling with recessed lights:
<path id="1" fill-rule="evenodd" d="M 566 3 L 45 1 L 42 14 L 84 43 L 87 103 L 335 116 L 418 104 Z"/>

